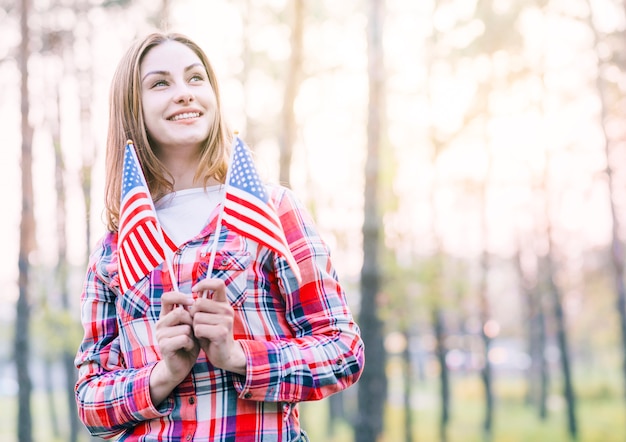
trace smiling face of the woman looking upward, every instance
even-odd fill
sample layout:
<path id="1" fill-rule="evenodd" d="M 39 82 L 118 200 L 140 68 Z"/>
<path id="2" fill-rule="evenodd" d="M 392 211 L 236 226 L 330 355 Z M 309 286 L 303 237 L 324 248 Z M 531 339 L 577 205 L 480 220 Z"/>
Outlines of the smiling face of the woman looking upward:
<path id="1" fill-rule="evenodd" d="M 144 56 L 140 75 L 144 120 L 155 151 L 192 147 L 199 152 L 217 107 L 200 58 L 184 44 L 167 41 Z"/>

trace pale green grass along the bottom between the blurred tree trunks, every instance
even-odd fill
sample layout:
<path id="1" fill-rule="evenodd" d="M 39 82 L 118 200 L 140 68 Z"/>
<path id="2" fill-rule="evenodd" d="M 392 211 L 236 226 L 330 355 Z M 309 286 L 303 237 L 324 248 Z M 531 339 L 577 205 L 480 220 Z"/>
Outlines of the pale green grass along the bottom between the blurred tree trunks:
<path id="1" fill-rule="evenodd" d="M 617 384 L 616 384 L 617 385 Z M 492 442 L 569 442 L 566 430 L 565 404 L 554 392 L 550 400 L 549 416 L 541 421 L 535 408 L 524 404 L 524 384 L 515 380 L 498 380 Z M 577 393 L 578 442 L 626 441 L 626 403 L 618 387 L 609 388 L 602 380 L 579 383 Z M 390 388 L 394 388 L 390 385 Z M 455 379 L 452 385 L 451 416 L 447 442 L 484 442 L 481 426 L 484 403 L 480 381 L 476 377 Z M 55 409 L 60 421 L 67 420 L 67 407 L 62 393 L 55 397 Z M 413 410 L 413 440 L 438 442 L 439 401 L 436 382 L 420 385 L 416 391 Z M 301 404 L 305 429 L 313 442 L 349 442 L 354 429 L 341 422 L 334 435 L 328 432 L 328 403 L 326 400 Z M 35 442 L 65 442 L 67 425 L 61 426 L 61 435 L 53 436 L 49 406 L 46 397 L 33 396 L 33 428 Z M 17 442 L 16 400 L 0 397 L 0 440 Z M 404 441 L 404 415 L 393 403 L 385 413 L 385 432 L 380 442 Z M 84 436 L 82 441 L 90 439 Z"/>

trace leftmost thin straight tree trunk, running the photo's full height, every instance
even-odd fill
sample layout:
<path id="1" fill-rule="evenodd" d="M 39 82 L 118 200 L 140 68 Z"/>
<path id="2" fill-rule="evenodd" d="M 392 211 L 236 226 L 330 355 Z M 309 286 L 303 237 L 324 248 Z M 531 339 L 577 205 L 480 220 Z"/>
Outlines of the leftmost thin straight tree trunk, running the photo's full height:
<path id="1" fill-rule="evenodd" d="M 20 246 L 18 258 L 19 295 L 16 307 L 14 357 L 18 380 L 18 415 L 17 437 L 19 442 L 32 442 L 31 392 L 32 382 L 29 373 L 30 351 L 30 254 L 34 251 L 35 218 L 33 213 L 33 176 L 32 176 L 32 140 L 33 130 L 28 121 L 28 60 L 30 58 L 30 32 L 28 17 L 29 0 L 21 0 L 21 43 L 20 43 L 20 75 L 21 75 L 21 132 L 22 132 L 22 218 L 20 222 Z"/>

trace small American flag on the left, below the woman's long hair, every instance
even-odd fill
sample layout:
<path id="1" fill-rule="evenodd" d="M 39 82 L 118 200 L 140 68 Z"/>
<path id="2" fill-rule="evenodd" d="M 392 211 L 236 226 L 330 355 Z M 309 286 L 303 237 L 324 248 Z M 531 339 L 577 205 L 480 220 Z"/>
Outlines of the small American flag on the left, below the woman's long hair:
<path id="1" fill-rule="evenodd" d="M 166 248 L 176 245 L 160 228 L 150 191 L 141 172 L 135 146 L 124 150 L 122 204 L 118 235 L 119 276 L 122 293 L 165 260 Z"/>

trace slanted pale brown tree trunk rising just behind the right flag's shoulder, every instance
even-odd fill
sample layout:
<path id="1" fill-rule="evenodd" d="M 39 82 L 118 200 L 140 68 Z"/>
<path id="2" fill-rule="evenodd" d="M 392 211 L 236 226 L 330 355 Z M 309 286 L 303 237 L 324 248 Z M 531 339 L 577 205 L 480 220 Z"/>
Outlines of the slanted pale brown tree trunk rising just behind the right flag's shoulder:
<path id="1" fill-rule="evenodd" d="M 304 33 L 304 0 L 290 2 L 292 10 L 291 24 L 291 57 L 283 96 L 283 127 L 280 137 L 279 180 L 281 184 L 289 186 L 291 183 L 291 158 L 293 146 L 296 142 L 297 122 L 295 116 L 295 102 L 300 87 L 302 72 L 302 39 Z"/>

